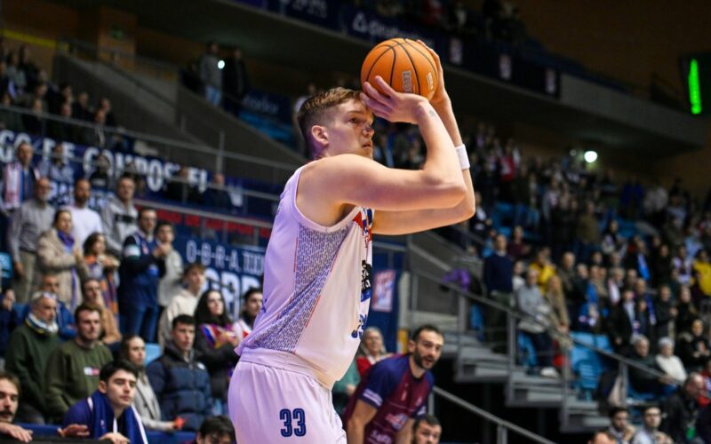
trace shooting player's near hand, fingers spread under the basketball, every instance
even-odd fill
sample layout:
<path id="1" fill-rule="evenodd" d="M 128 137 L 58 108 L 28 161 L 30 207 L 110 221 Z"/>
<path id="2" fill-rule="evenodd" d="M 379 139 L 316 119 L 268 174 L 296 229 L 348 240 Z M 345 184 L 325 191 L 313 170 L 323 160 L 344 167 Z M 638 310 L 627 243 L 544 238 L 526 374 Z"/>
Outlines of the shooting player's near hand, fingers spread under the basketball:
<path id="1" fill-rule="evenodd" d="M 379 75 L 375 76 L 380 93 L 371 83 L 363 83 L 361 100 L 373 114 L 389 122 L 418 123 L 418 116 L 423 112 L 423 106 L 428 106 L 427 99 L 417 94 L 397 92 Z"/>

